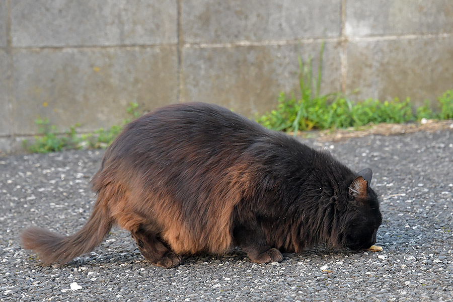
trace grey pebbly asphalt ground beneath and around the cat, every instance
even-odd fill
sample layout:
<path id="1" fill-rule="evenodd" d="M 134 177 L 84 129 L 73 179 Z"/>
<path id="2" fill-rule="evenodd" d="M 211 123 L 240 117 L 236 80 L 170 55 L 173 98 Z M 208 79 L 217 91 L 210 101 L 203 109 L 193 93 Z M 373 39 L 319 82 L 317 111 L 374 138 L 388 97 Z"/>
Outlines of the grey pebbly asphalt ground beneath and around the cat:
<path id="1" fill-rule="evenodd" d="M 19 233 L 29 225 L 81 228 L 103 152 L 14 155 L 0 158 L 0 301 L 451 301 L 453 131 L 310 143 L 357 171 L 373 169 L 383 252 L 319 249 L 254 264 L 237 251 L 163 269 L 113 229 L 94 252 L 42 267 L 21 249 Z"/>

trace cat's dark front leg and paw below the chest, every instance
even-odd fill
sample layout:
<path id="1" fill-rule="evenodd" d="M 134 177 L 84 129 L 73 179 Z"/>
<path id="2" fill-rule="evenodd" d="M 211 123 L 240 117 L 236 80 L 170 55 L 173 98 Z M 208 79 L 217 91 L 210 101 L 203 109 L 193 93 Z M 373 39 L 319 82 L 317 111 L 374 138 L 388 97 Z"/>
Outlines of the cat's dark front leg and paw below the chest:
<path id="1" fill-rule="evenodd" d="M 266 243 L 263 230 L 256 221 L 236 225 L 233 236 L 235 244 L 240 246 L 253 262 L 269 263 L 283 260 L 280 251 Z"/>

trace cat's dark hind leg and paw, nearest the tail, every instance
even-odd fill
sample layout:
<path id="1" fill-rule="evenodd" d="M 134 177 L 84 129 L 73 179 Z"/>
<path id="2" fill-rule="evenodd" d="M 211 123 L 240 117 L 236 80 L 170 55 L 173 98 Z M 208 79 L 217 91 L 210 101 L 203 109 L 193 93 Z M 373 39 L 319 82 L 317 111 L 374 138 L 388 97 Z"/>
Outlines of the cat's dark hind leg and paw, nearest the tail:
<path id="1" fill-rule="evenodd" d="M 131 232 L 131 235 L 135 239 L 140 253 L 147 261 L 166 268 L 181 264 L 181 256 L 173 252 L 159 237 L 148 232 L 142 225 L 136 231 Z"/>

